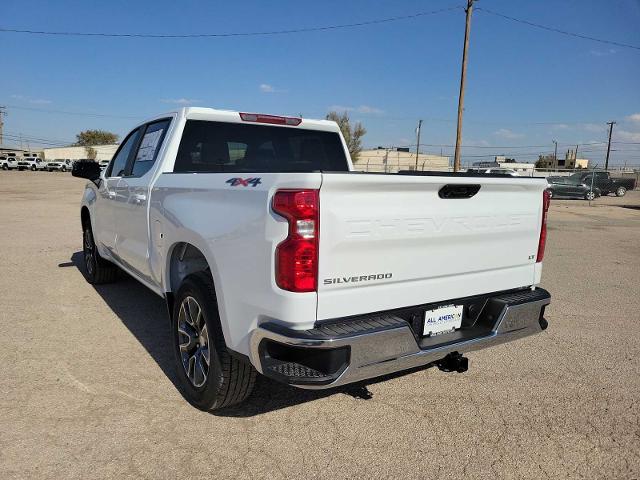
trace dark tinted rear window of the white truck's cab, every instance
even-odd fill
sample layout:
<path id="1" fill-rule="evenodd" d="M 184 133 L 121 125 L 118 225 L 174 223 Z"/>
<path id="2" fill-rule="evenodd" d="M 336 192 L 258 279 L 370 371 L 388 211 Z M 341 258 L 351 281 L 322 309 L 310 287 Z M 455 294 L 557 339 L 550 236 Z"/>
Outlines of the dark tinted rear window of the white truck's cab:
<path id="1" fill-rule="evenodd" d="M 333 132 L 188 120 L 174 172 L 348 171 Z"/>

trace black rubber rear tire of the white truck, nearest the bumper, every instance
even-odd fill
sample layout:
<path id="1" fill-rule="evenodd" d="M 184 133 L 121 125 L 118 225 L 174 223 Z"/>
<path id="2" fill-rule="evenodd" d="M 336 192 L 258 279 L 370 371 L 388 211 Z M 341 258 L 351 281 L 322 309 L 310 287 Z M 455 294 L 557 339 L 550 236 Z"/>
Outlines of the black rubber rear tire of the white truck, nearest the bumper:
<path id="1" fill-rule="evenodd" d="M 196 301 L 201 312 L 195 320 L 200 333 L 185 323 L 184 305 L 189 298 Z M 199 320 L 198 320 L 199 319 Z M 180 326 L 181 332 L 178 333 Z M 204 328 L 206 326 L 206 334 Z M 189 328 L 185 328 L 189 327 Z M 191 333 L 187 334 L 190 330 Z M 171 315 L 171 332 L 176 369 L 180 390 L 184 397 L 196 408 L 205 411 L 217 410 L 243 402 L 251 394 L 256 379 L 256 371 L 251 364 L 231 356 L 220 325 L 220 315 L 216 301 L 216 292 L 211 277 L 204 273 L 194 273 L 182 282 L 175 296 Z M 205 348 L 198 340 L 206 336 L 206 352 L 209 365 L 206 365 Z M 202 342 L 202 340 L 199 340 Z M 193 343 L 192 343 L 193 342 Z M 184 347 L 181 349 L 181 343 Z M 199 357 L 198 357 L 198 352 Z M 193 358 L 193 367 L 191 367 Z M 196 386 L 196 365 L 200 366 L 200 386 Z M 204 367 L 206 366 L 206 372 Z M 193 368 L 193 380 L 187 369 Z"/>

